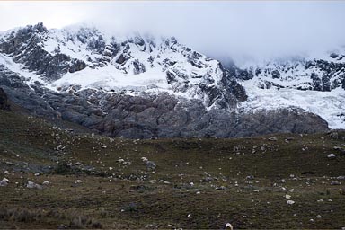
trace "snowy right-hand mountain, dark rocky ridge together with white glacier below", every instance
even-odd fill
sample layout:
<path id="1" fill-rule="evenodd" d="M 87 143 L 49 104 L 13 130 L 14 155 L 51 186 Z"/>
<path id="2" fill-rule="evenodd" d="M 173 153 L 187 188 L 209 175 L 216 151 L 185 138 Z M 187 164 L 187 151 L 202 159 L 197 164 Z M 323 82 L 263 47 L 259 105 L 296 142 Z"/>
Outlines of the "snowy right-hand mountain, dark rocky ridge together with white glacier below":
<path id="1" fill-rule="evenodd" d="M 296 106 L 345 128 L 345 48 L 314 56 L 228 66 L 248 94 L 244 111 Z"/>

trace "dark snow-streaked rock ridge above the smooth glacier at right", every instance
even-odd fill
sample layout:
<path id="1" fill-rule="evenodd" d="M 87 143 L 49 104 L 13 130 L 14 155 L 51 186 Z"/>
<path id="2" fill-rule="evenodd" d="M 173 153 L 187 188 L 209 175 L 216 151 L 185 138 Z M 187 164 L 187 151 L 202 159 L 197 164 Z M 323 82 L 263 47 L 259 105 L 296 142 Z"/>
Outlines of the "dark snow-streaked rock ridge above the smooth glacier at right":
<path id="1" fill-rule="evenodd" d="M 254 76 L 258 85 L 267 84 L 277 88 L 292 88 L 298 90 L 313 90 L 330 92 L 343 85 L 345 78 L 345 58 L 343 56 L 326 59 L 298 58 L 286 61 L 265 63 L 261 66 L 251 66 L 239 69 L 233 64 L 229 68 L 237 79 L 250 80 Z"/>

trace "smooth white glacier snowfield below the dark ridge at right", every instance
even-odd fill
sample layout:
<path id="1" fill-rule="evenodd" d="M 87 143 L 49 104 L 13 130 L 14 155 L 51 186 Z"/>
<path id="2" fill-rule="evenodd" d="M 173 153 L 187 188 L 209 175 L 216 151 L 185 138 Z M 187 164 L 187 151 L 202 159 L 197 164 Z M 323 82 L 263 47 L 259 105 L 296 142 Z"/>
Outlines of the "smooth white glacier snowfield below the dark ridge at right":
<path id="1" fill-rule="evenodd" d="M 345 128 L 345 91 L 338 87 L 331 92 L 301 91 L 288 88 L 260 89 L 258 79 L 243 81 L 248 100 L 239 105 L 244 111 L 277 110 L 300 107 L 328 122 L 330 128 Z"/>

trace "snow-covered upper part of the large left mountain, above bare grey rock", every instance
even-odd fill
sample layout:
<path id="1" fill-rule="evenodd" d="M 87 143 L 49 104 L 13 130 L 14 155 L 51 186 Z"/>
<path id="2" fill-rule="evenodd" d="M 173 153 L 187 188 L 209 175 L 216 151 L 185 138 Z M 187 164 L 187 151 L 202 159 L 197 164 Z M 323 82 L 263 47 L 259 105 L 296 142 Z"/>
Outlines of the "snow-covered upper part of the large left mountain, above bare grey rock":
<path id="1" fill-rule="evenodd" d="M 234 95 L 227 89 L 236 83 L 217 60 L 173 37 L 114 37 L 82 26 L 49 31 L 40 23 L 4 33 L 0 50 L 4 53 L 0 61 L 10 70 L 20 72 L 29 84 L 38 82 L 53 91 L 74 86 L 108 92 L 167 92 L 225 107 L 245 100 L 244 92 Z"/>

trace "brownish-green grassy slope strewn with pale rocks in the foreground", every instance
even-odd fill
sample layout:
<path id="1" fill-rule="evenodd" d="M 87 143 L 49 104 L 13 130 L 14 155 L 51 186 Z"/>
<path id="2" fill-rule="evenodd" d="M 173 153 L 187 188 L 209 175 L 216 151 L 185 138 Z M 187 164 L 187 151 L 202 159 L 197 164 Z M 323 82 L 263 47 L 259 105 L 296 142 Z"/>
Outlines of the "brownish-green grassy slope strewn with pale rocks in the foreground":
<path id="1" fill-rule="evenodd" d="M 0 111 L 0 176 L 10 180 L 0 187 L 0 227 L 97 227 L 98 222 L 104 228 L 219 229 L 226 222 L 235 228 L 345 226 L 345 181 L 332 178 L 345 173 L 345 155 L 333 149 L 345 148 L 342 138 L 279 134 L 277 141 L 271 136 L 128 140 L 52 127 Z M 328 159 L 330 153 L 336 158 Z M 157 164 L 155 173 L 146 169 L 143 156 Z M 57 162 L 93 166 L 95 175 L 42 170 Z M 249 175 L 253 179 L 246 179 Z M 76 184 L 78 179 L 83 182 Z M 51 184 L 32 190 L 23 186 L 28 180 Z M 287 204 L 286 194 L 294 205 Z"/>

